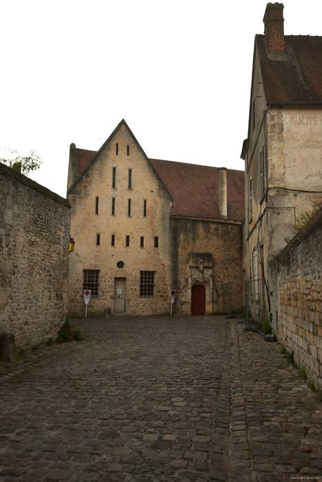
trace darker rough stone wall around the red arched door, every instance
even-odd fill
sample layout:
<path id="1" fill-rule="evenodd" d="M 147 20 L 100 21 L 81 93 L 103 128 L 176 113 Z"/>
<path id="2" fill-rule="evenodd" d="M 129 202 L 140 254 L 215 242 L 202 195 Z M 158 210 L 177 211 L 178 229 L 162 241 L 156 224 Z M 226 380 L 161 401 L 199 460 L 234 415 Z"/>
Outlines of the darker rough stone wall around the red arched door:
<path id="1" fill-rule="evenodd" d="M 171 218 L 174 314 L 190 315 L 192 287 L 205 286 L 206 315 L 223 312 L 223 285 L 232 283 L 232 310 L 243 306 L 241 223 Z"/>

